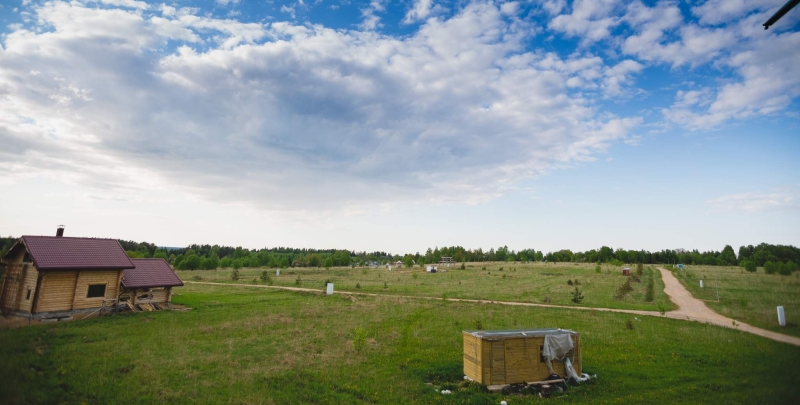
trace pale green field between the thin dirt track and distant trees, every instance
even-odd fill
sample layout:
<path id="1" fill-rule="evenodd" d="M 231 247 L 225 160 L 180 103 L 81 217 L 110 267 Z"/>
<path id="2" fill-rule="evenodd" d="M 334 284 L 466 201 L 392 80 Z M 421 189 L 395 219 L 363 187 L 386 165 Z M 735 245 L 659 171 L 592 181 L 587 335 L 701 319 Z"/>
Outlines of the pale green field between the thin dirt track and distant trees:
<path id="1" fill-rule="evenodd" d="M 439 273 L 426 273 L 423 268 L 290 268 L 275 275 L 275 269 L 240 269 L 240 279 L 231 280 L 232 269 L 178 271 L 186 281 L 222 283 L 265 284 L 260 279 L 263 271 L 270 275 L 272 285 L 306 287 L 323 290 L 325 282 L 334 283 L 336 290 L 372 292 L 393 295 L 413 295 L 441 298 L 470 298 L 497 301 L 521 301 L 557 305 L 580 305 L 618 309 L 669 310 L 675 306 L 664 294 L 660 273 L 652 268 L 645 270 L 641 282 L 631 283 L 633 291 L 622 299 L 614 293 L 627 279 L 618 266 L 602 266 L 596 272 L 595 264 L 576 263 L 467 263 L 460 270 L 458 263 L 451 267 L 440 266 Z M 633 268 L 635 272 L 635 267 Z M 647 276 L 655 277 L 653 302 L 645 301 Z M 568 282 L 572 281 L 573 285 Z M 580 284 L 575 285 L 575 282 Z M 580 304 L 571 301 L 575 288 L 584 296 Z"/>

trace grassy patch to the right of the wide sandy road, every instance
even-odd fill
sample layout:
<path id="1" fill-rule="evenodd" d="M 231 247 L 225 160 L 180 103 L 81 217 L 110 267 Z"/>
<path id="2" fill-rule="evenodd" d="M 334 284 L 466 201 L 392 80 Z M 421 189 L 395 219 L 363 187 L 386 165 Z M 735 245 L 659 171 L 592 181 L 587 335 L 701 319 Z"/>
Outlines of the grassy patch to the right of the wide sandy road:
<path id="1" fill-rule="evenodd" d="M 800 272 L 782 276 L 766 274 L 761 267 L 755 273 L 748 273 L 741 267 L 686 266 L 685 271 L 673 270 L 673 274 L 692 295 L 722 315 L 800 336 Z M 701 279 L 705 288 L 700 288 Z M 786 313 L 785 327 L 778 325 L 778 305 L 782 305 Z"/>

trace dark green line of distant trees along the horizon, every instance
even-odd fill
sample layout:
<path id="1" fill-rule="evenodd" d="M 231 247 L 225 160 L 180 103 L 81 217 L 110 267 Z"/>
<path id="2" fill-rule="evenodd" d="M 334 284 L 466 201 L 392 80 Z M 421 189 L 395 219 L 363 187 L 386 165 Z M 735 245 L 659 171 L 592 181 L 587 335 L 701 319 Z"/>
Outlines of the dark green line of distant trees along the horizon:
<path id="1" fill-rule="evenodd" d="M 0 238 L 0 254 L 5 254 L 16 238 Z M 770 245 L 741 246 L 738 253 L 730 245 L 722 251 L 700 252 L 698 250 L 614 250 L 603 246 L 586 252 L 559 250 L 557 252 L 525 249 L 509 250 L 507 246 L 498 249 L 469 250 L 461 246 L 428 248 L 424 254 L 392 255 L 387 252 L 355 252 L 337 249 L 297 249 L 274 247 L 264 249 L 245 249 L 218 245 L 191 245 L 185 248 L 164 248 L 147 242 L 119 241 L 128 256 L 134 258 L 156 257 L 168 260 L 180 270 L 211 270 L 216 268 L 242 267 L 339 267 L 386 264 L 402 261 L 405 266 L 414 264 L 438 263 L 442 257 L 452 257 L 456 262 L 576 262 L 576 263 L 625 263 L 674 264 L 708 266 L 742 266 L 748 271 L 764 267 L 767 273 L 788 274 L 796 271 L 800 263 L 800 249 L 794 246 Z"/>

